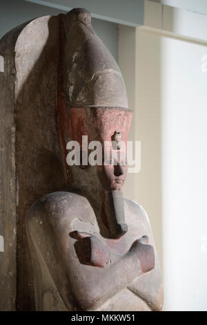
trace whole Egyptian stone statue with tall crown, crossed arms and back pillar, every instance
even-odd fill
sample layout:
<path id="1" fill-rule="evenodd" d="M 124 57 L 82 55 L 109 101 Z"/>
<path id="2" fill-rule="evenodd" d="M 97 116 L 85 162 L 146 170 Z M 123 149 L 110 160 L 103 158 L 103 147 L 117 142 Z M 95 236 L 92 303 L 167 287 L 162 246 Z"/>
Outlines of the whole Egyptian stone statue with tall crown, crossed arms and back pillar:
<path id="1" fill-rule="evenodd" d="M 162 310 L 148 216 L 121 192 L 132 111 L 90 13 L 23 24 L 1 39 L 0 55 L 0 308 Z M 108 143 L 96 165 L 86 163 L 95 149 L 86 136 Z M 70 141 L 80 165 L 68 165 Z"/>

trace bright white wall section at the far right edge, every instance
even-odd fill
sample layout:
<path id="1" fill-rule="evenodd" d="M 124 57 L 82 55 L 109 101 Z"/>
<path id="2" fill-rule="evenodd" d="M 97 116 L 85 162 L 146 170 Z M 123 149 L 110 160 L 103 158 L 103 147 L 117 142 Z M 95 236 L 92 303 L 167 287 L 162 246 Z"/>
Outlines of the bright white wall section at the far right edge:
<path id="1" fill-rule="evenodd" d="M 161 37 L 165 306 L 207 310 L 207 46 Z"/>

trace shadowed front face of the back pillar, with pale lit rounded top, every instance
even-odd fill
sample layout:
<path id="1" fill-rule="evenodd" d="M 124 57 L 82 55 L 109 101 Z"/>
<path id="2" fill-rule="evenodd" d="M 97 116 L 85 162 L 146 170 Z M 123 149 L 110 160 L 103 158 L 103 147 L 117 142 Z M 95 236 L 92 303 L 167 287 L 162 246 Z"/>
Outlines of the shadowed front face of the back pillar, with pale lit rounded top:
<path id="1" fill-rule="evenodd" d="M 40 195 L 66 187 L 56 123 L 57 17 L 28 24 L 15 46 L 17 159 L 17 309 L 33 309 L 27 216 Z"/>

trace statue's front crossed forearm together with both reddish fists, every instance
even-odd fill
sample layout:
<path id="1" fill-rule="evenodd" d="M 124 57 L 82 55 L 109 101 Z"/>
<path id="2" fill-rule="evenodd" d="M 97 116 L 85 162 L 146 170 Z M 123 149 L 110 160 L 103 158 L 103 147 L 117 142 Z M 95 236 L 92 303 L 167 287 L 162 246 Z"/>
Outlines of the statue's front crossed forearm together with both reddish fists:
<path id="1" fill-rule="evenodd" d="M 72 232 L 77 239 L 75 250 L 85 272 L 79 274 L 83 290 L 76 290 L 77 301 L 83 310 L 103 304 L 119 291 L 126 288 L 140 275 L 155 267 L 155 253 L 148 245 L 148 237 L 135 241 L 130 250 L 112 262 L 112 253 L 96 236 L 82 232 Z"/>

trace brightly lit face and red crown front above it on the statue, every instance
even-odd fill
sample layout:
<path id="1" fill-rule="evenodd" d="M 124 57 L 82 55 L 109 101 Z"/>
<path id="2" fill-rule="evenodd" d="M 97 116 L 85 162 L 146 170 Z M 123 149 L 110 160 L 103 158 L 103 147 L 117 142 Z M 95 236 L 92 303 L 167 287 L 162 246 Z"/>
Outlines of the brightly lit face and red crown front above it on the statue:
<path id="1" fill-rule="evenodd" d="M 131 118 L 132 111 L 97 109 L 94 124 L 104 146 L 103 164 L 98 166 L 98 176 L 107 191 L 119 191 L 126 179 L 126 149 Z"/>

